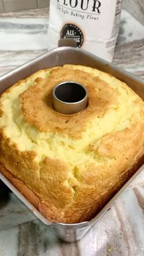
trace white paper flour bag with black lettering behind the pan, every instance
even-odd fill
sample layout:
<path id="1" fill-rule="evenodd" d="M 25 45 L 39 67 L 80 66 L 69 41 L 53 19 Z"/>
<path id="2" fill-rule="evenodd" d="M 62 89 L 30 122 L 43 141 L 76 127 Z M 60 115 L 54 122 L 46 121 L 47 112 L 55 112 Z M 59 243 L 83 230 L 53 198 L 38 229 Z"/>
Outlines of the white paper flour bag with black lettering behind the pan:
<path id="1" fill-rule="evenodd" d="M 48 49 L 60 38 L 74 38 L 83 48 L 109 62 L 113 59 L 122 0 L 51 0 Z"/>

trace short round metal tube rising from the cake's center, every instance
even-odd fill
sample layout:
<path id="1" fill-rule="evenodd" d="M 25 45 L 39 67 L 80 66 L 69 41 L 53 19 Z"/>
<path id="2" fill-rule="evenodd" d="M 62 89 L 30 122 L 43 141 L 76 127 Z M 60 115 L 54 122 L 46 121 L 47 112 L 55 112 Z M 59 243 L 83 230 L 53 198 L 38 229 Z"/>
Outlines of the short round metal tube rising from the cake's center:
<path id="1" fill-rule="evenodd" d="M 87 89 L 78 82 L 66 81 L 54 87 L 53 108 L 62 114 L 74 114 L 87 108 Z"/>

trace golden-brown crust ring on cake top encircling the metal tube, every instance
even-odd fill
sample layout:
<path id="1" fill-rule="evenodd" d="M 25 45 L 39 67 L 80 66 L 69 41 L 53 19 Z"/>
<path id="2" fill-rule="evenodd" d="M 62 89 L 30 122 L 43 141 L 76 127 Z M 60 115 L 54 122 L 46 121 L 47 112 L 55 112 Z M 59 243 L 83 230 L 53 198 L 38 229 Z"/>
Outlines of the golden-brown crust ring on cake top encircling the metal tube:
<path id="1" fill-rule="evenodd" d="M 76 81 L 87 88 L 88 107 L 72 115 L 64 115 L 52 108 L 52 90 L 64 81 Z M 51 71 L 46 79 L 38 78 L 35 86 L 20 95 L 26 122 L 40 131 L 59 131 L 71 137 L 81 137 L 88 120 L 101 117 L 110 108 L 117 108 L 118 91 L 109 84 L 82 70 L 59 67 Z"/>

